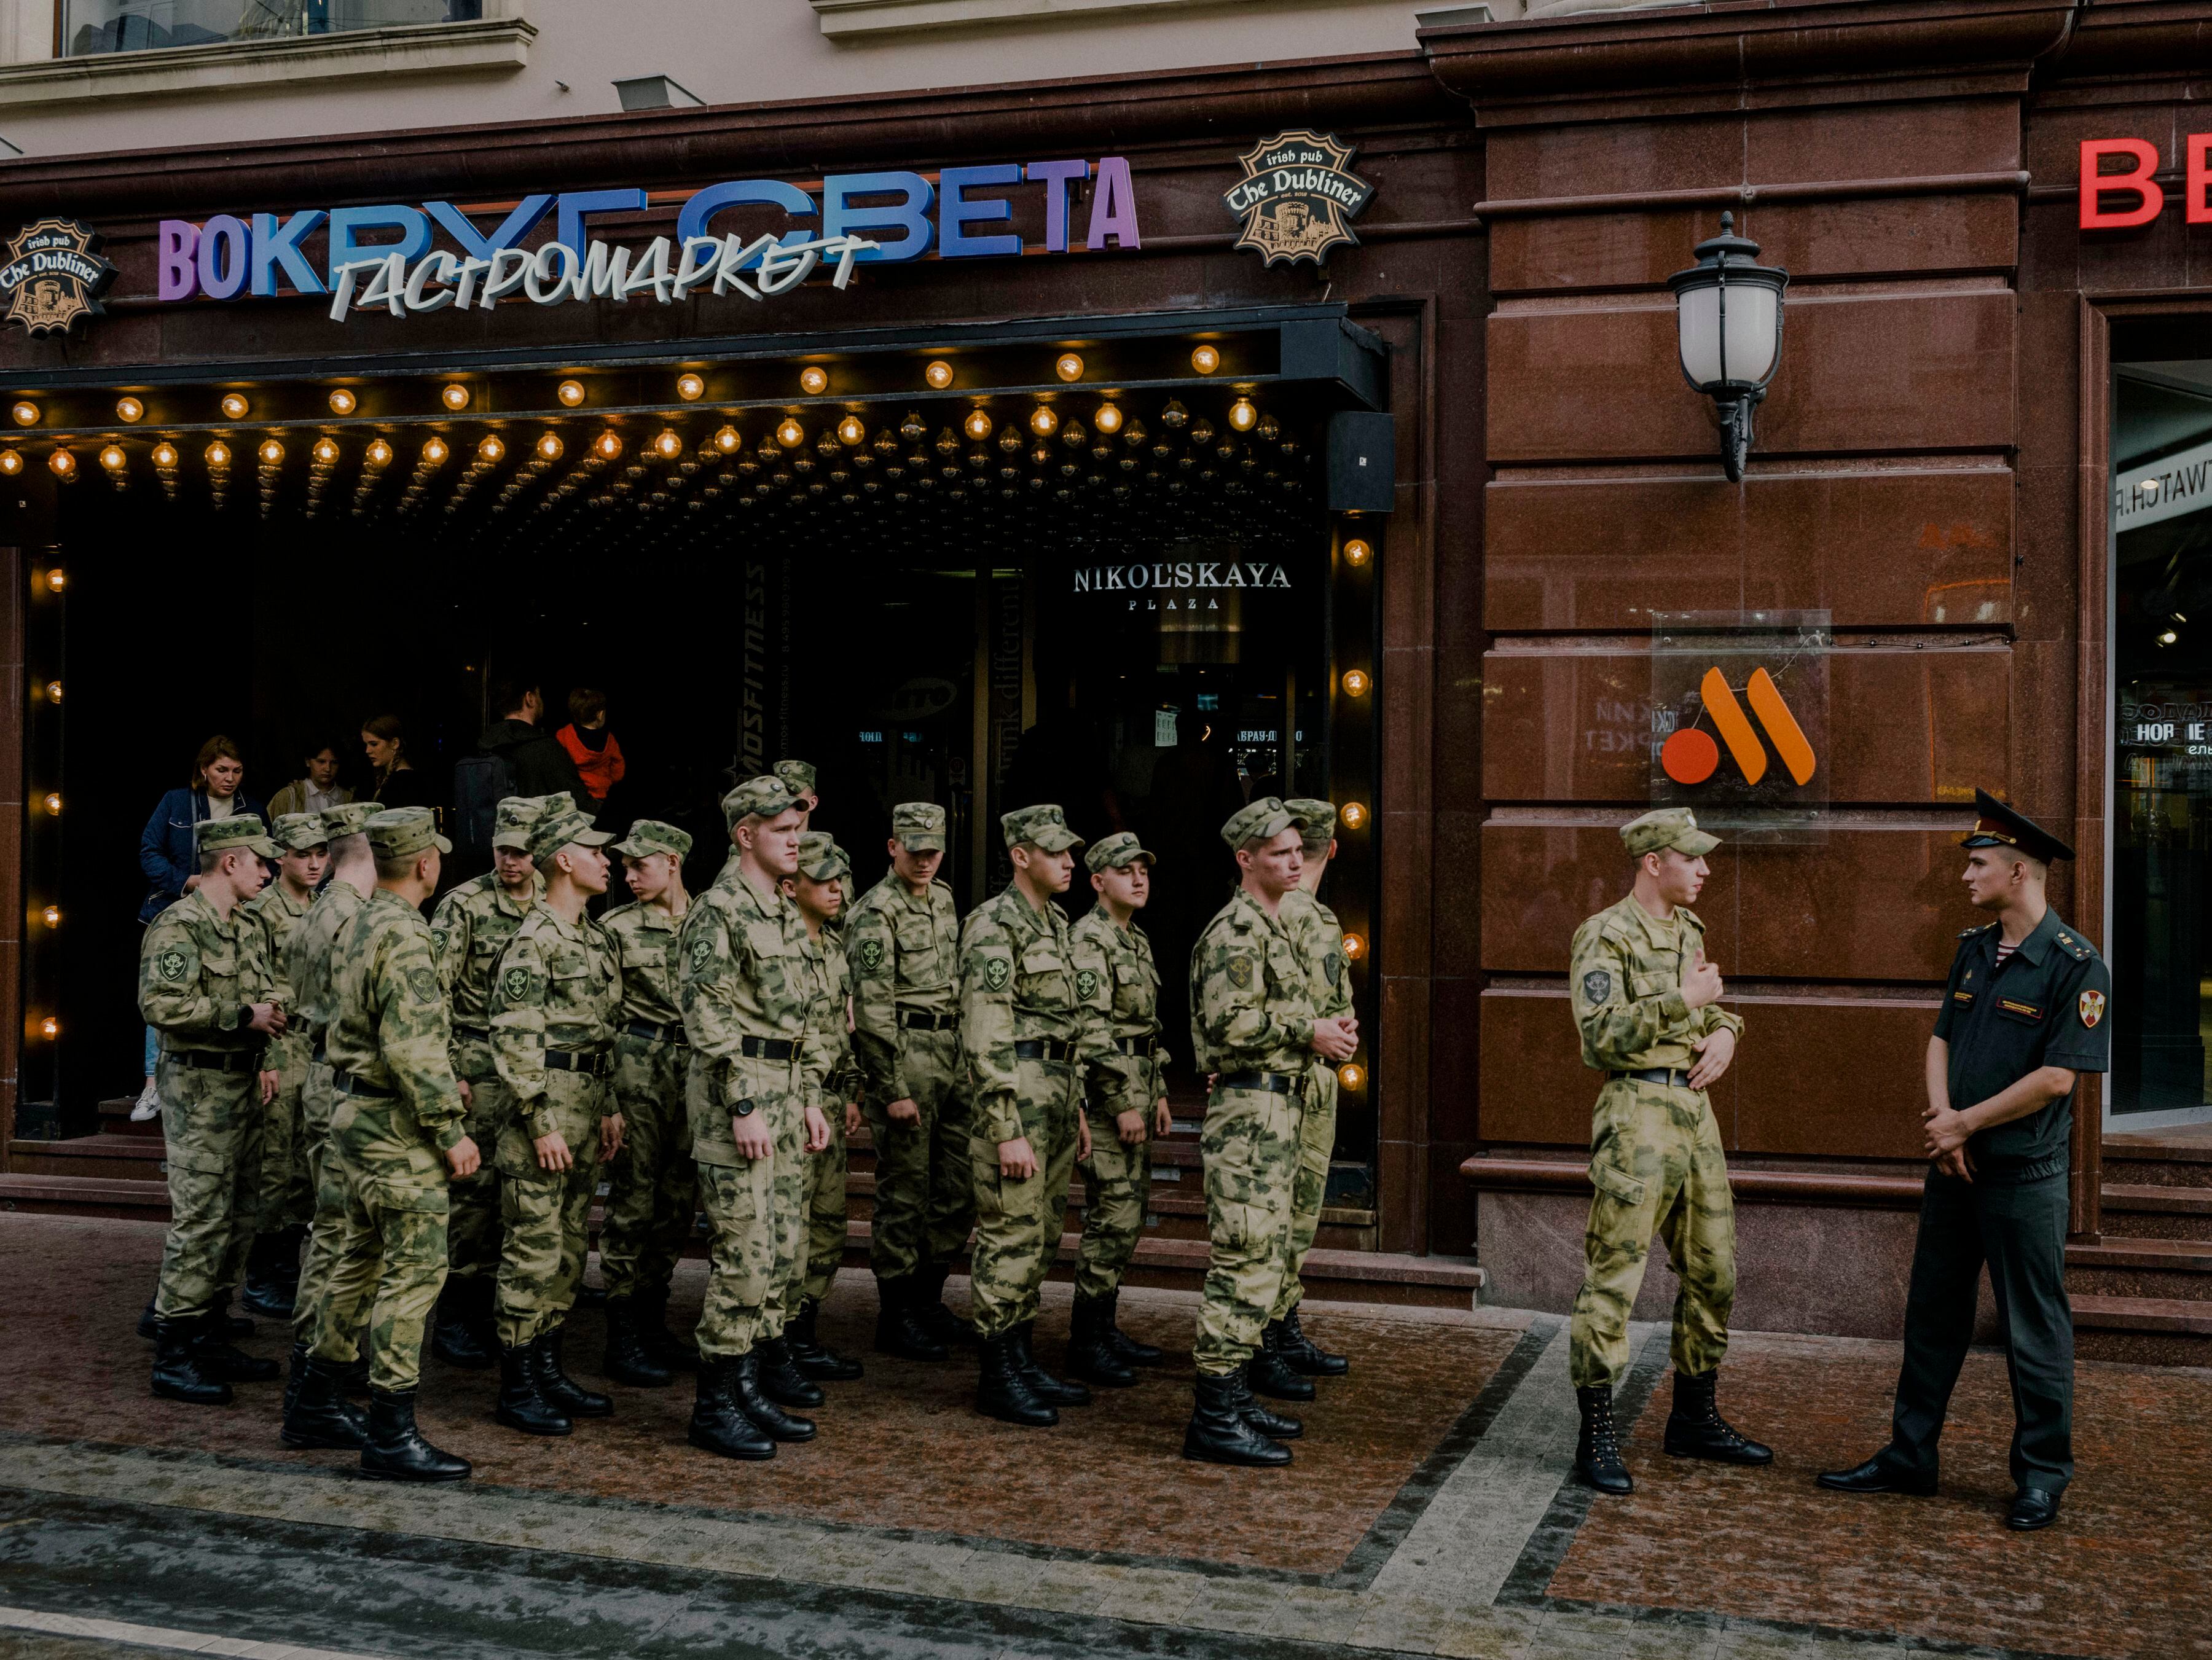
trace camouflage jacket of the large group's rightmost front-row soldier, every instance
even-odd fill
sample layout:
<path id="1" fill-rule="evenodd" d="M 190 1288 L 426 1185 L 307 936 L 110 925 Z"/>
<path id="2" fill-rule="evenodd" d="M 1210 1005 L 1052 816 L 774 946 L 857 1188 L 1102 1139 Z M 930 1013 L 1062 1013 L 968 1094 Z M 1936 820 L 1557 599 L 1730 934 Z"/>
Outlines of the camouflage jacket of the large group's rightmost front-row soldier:
<path id="1" fill-rule="evenodd" d="M 1190 948 L 1190 1048 L 1199 1072 L 1290 1072 L 1314 1061 L 1314 984 L 1283 915 L 1243 889 Z"/>

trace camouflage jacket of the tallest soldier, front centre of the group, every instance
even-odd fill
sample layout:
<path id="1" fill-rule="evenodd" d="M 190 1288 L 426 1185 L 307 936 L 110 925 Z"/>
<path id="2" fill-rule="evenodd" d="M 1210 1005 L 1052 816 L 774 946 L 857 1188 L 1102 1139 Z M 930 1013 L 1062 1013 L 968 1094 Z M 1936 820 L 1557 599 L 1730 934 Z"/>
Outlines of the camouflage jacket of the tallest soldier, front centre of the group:
<path id="1" fill-rule="evenodd" d="M 805 924 L 781 893 L 763 895 L 737 860 L 684 913 L 684 1030 L 706 1061 L 739 1059 L 748 1037 L 801 1043 L 807 1034 Z M 734 1105 L 743 1079 L 728 1072 Z"/>

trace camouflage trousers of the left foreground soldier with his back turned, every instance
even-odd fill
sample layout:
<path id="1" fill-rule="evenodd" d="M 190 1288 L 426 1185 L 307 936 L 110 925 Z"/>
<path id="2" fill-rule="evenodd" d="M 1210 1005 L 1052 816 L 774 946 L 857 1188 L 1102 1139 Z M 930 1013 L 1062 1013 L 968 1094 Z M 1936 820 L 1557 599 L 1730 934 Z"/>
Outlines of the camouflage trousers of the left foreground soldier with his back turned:
<path id="1" fill-rule="evenodd" d="M 310 1353 L 343 1366 L 365 1342 L 369 1388 L 407 1393 L 422 1381 L 422 1328 L 445 1289 L 445 1183 L 380 1180 L 343 1154 L 330 1163 L 345 1172 L 345 1220 Z"/>

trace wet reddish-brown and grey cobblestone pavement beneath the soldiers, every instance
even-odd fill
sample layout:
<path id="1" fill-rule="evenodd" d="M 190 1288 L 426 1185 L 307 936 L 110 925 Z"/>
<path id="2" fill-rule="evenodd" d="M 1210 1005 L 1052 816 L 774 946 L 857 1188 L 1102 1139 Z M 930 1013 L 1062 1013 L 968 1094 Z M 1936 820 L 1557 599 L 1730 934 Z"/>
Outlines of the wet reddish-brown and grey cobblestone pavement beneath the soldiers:
<path id="1" fill-rule="evenodd" d="M 1022 1432 L 967 1410 L 964 1357 L 867 1357 L 768 1465 L 690 1452 L 684 1384 L 542 1443 L 431 1366 L 425 1423 L 478 1479 L 418 1492 L 285 1452 L 274 1386 L 155 1401 L 131 1322 L 157 1253 L 135 1222 L 0 1218 L 0 1660 L 2212 1656 L 2208 1373 L 2084 1366 L 2081 1477 L 2033 1536 L 2000 1525 L 1995 1355 L 1969 1362 L 1940 1499 L 1847 1501 L 1812 1472 L 1880 1441 L 1893 1344 L 1739 1337 L 1723 1408 L 1778 1459 L 1723 1470 L 1659 1454 L 1666 1339 L 1639 1328 L 1637 1492 L 1595 1503 L 1562 1326 L 1509 1311 L 1314 1306 L 1354 1373 L 1301 1410 L 1287 1472 L 1177 1457 L 1188 1359 Z M 677 1309 L 697 1295 L 686 1264 Z M 1188 1353 L 1192 1302 L 1130 1291 L 1124 1324 Z M 825 1335 L 865 1351 L 872 1309 L 845 1275 Z M 1055 1286 L 1046 1359 L 1064 1324 Z M 580 1311 L 571 1370 L 595 1351 Z"/>

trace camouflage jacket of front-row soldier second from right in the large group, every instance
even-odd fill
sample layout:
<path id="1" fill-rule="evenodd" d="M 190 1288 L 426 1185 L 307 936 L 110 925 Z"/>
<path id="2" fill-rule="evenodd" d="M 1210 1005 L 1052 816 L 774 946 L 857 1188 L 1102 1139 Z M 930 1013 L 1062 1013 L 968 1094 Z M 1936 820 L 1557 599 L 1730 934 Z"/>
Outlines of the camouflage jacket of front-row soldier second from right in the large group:
<path id="1" fill-rule="evenodd" d="M 1031 1039 L 1075 1043 L 1075 1065 L 1113 1052 L 1106 1021 L 1075 995 L 1068 913 L 1040 913 L 1018 886 L 969 911 L 960 928 L 960 1043 L 975 1081 L 975 1134 L 1020 1141 L 1020 1074 L 1013 1046 Z"/>

